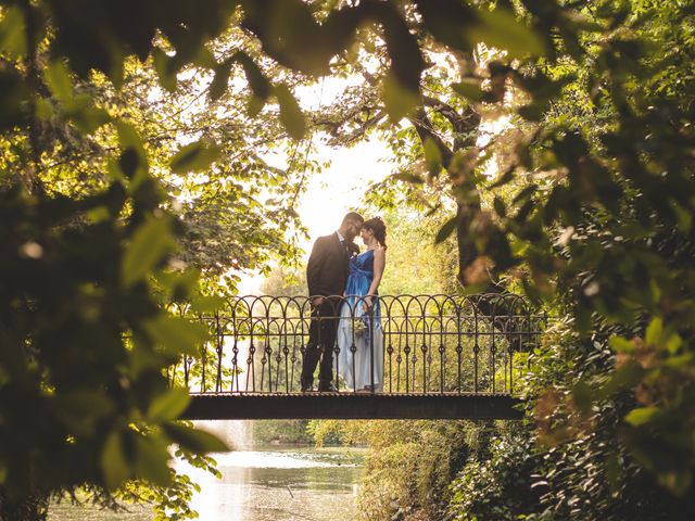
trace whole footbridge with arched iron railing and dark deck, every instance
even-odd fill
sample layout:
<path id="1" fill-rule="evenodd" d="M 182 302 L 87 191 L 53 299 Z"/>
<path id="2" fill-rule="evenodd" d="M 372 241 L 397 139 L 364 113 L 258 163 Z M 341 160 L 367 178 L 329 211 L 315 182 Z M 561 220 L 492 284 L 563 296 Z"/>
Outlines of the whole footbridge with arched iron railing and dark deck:
<path id="1" fill-rule="evenodd" d="M 170 384 L 192 397 L 184 417 L 521 417 L 516 382 L 547 319 L 519 295 L 384 295 L 371 308 L 361 298 L 329 303 L 331 313 L 313 317 L 306 296 L 240 296 L 199 315 L 212 340 L 169 370 Z M 303 393 L 309 328 L 327 320 L 349 326 L 348 344 L 333 344 L 334 392 Z M 377 323 L 374 334 L 365 331 Z M 355 373 L 355 357 L 341 356 L 341 348 L 365 350 L 371 382 L 379 382 L 369 392 L 350 389 L 339 376 L 345 359 L 353 367 L 342 374 Z"/>

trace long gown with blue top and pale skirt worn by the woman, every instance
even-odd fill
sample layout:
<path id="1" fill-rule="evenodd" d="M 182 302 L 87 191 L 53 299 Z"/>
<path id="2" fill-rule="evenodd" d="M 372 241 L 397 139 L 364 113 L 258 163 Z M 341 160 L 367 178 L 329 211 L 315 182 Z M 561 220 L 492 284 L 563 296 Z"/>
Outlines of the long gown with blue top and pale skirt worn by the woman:
<path id="1" fill-rule="evenodd" d="M 338 347 L 336 372 L 350 389 L 383 390 L 383 330 L 381 328 L 381 306 L 372 298 L 374 312 L 370 319 L 361 297 L 369 291 L 374 280 L 374 250 L 367 250 L 350 259 L 345 285 L 348 297 L 343 302 L 338 325 Z M 371 339 L 374 338 L 374 356 Z M 374 370 L 372 370 L 374 365 Z M 374 373 L 374 377 L 372 377 Z"/>

